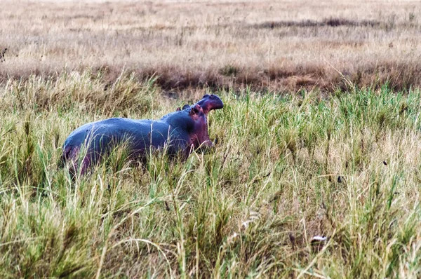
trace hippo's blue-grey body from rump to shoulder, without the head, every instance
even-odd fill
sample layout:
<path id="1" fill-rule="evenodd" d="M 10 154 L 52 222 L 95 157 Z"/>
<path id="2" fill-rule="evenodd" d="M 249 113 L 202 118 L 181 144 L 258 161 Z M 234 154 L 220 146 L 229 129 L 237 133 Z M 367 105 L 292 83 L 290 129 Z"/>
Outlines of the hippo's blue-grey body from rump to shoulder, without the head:
<path id="1" fill-rule="evenodd" d="M 125 142 L 130 156 L 144 157 L 150 147 L 160 149 L 168 144 L 168 153 L 185 151 L 188 135 L 181 129 L 173 128 L 166 121 L 150 119 L 109 118 L 82 125 L 74 130 L 63 146 L 62 163 L 72 161 L 75 170 L 83 153 L 81 172 L 98 163 L 117 145 Z"/>

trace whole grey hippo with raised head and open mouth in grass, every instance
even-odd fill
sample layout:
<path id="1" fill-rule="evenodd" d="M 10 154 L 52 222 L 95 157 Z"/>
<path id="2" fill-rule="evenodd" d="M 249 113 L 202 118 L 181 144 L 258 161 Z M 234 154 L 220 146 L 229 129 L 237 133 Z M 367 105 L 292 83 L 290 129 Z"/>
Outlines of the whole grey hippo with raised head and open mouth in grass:
<path id="1" fill-rule="evenodd" d="M 109 118 L 87 123 L 65 140 L 62 163 L 72 162 L 72 172 L 77 172 L 80 163 L 83 175 L 122 142 L 128 144 L 131 158 L 145 158 L 151 147 L 166 147 L 170 155 L 181 152 L 187 157 L 193 149 L 213 146 L 209 140 L 207 114 L 222 107 L 224 104 L 217 95 L 205 95 L 196 104 L 178 108 L 160 120 Z M 86 152 L 83 158 L 79 156 L 81 149 Z"/>

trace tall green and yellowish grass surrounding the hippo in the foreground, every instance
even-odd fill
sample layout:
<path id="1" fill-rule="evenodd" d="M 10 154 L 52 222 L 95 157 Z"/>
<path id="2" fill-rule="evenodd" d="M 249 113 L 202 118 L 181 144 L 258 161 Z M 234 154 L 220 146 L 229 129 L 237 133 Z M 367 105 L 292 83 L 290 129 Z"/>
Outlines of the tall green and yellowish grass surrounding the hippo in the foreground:
<path id="1" fill-rule="evenodd" d="M 98 80 L 1 86 L 1 278 L 420 277 L 419 90 L 220 90 L 215 151 L 116 149 L 72 180 L 58 159 L 74 128 L 183 104 L 153 80 Z"/>

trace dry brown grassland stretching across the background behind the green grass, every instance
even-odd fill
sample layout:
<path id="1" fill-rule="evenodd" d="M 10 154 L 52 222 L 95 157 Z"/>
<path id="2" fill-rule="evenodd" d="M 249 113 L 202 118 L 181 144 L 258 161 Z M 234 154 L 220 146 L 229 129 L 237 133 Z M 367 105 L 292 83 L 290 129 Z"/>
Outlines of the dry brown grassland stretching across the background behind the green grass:
<path id="1" fill-rule="evenodd" d="M 164 89 L 421 85 L 418 1 L 2 1 L 0 80 L 124 68 Z"/>

